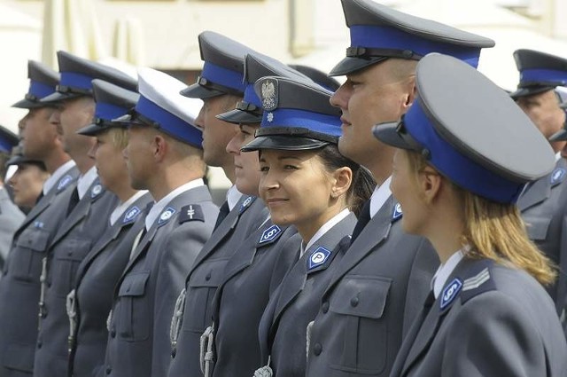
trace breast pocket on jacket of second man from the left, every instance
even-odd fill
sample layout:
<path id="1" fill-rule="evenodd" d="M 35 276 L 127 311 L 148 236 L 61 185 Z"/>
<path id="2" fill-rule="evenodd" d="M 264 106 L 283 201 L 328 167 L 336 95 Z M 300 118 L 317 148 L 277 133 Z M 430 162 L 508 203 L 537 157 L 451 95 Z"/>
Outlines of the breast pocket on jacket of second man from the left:
<path id="1" fill-rule="evenodd" d="M 54 261 L 50 264 L 51 287 L 58 297 L 66 297 L 74 287 L 79 264 L 89 253 L 90 241 L 64 239 L 57 246 Z"/>

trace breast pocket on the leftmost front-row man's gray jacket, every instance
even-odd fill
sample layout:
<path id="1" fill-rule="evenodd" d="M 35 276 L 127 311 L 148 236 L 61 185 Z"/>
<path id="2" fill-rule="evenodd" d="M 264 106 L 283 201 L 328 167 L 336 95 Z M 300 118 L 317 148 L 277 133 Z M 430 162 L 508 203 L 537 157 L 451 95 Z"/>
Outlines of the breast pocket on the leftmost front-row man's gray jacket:
<path id="1" fill-rule="evenodd" d="M 7 266 L 14 279 L 39 282 L 49 240 L 50 232 L 38 228 L 28 228 L 19 235 Z"/>

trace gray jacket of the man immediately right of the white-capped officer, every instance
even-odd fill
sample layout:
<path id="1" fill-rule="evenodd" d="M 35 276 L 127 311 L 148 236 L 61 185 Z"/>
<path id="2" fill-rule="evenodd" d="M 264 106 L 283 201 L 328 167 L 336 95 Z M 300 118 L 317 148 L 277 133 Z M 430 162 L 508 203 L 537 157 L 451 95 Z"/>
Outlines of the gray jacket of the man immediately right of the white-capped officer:
<path id="1" fill-rule="evenodd" d="M 185 280 L 183 322 L 168 376 L 202 376 L 199 340 L 213 322 L 211 302 L 216 288 L 225 279 L 224 271 L 230 257 L 267 217 L 268 209 L 261 200 L 243 196 L 199 253 Z"/>

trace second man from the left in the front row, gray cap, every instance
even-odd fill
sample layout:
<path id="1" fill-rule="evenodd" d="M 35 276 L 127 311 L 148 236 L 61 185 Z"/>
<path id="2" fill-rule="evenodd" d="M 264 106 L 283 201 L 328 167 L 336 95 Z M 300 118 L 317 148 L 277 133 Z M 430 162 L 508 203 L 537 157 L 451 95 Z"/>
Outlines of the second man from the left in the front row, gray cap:
<path id="1" fill-rule="evenodd" d="M 136 80 L 128 75 L 65 51 L 58 51 L 58 63 L 61 74 L 58 91 L 42 101 L 56 102 L 60 106 L 63 145 L 81 176 L 63 209 L 66 219 L 43 259 L 44 280 L 34 362 L 36 377 L 66 375 L 69 328 L 66 296 L 73 289 L 77 267 L 108 228 L 106 219 L 118 203 L 113 192 L 100 184 L 94 161 L 89 157 L 96 138 L 76 132 L 90 124 L 94 117 L 92 80 L 99 78 L 130 90 L 136 88 Z"/>

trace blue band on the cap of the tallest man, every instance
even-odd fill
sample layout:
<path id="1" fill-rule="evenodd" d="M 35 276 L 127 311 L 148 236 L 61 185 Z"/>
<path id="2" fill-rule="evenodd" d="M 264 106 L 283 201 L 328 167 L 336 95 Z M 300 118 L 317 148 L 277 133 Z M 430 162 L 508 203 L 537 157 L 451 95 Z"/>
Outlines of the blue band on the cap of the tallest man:
<path id="1" fill-rule="evenodd" d="M 350 27 L 351 46 L 377 49 L 409 50 L 425 56 L 431 52 L 461 59 L 472 67 L 478 67 L 480 48 L 431 41 L 411 35 L 395 27 L 353 25 Z"/>

